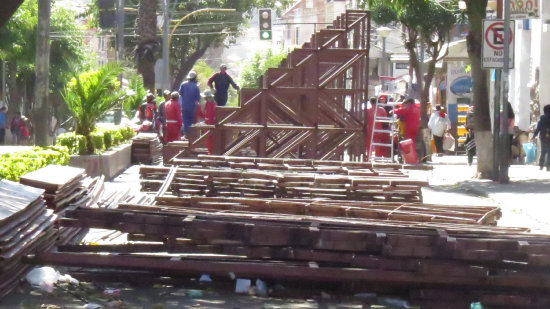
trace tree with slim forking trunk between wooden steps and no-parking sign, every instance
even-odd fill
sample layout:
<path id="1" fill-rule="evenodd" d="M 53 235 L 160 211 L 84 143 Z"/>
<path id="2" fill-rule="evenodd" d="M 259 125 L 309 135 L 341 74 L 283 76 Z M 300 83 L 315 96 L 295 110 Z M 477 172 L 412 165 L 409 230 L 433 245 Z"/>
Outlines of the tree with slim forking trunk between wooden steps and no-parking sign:
<path id="1" fill-rule="evenodd" d="M 405 33 L 402 36 L 403 42 L 409 53 L 409 63 L 414 70 L 420 89 L 419 134 L 427 135 L 427 108 L 435 65 L 444 56 L 442 51 L 445 44 L 448 43 L 450 30 L 456 24 L 456 14 L 450 7 L 446 7 L 446 4 L 433 0 L 367 0 L 367 3 L 373 9 L 373 20 L 377 24 L 399 22 L 405 28 Z M 425 70 L 421 69 L 424 64 L 418 60 L 419 46 L 422 46 L 429 56 Z M 425 74 L 422 76 L 422 73 Z M 417 140 L 426 140 L 426 136 Z M 426 142 L 421 149 L 427 149 Z M 425 151 L 420 154 L 420 157 L 424 156 Z"/>

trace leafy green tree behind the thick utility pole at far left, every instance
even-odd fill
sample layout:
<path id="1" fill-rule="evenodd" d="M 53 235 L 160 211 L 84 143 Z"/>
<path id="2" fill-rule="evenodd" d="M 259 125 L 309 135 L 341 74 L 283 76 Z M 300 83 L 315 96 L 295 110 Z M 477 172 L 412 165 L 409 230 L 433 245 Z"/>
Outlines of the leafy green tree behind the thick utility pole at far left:
<path id="1" fill-rule="evenodd" d="M 0 28 L 0 59 L 7 62 L 10 115 L 20 110 L 26 115 L 33 114 L 37 21 L 37 1 L 28 0 Z M 48 115 L 53 114 L 60 121 L 68 113 L 60 91 L 71 79 L 71 67 L 87 69 L 94 60 L 82 37 L 68 35 L 81 30 L 73 11 L 52 8 Z"/>

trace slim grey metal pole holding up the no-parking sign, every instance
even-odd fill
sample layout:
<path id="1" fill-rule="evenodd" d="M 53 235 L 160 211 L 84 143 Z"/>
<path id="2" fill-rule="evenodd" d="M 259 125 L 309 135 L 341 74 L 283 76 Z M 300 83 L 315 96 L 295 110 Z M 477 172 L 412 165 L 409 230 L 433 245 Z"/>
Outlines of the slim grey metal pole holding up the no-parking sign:
<path id="1" fill-rule="evenodd" d="M 502 65 L 502 87 L 500 102 L 502 114 L 500 116 L 500 169 L 498 181 L 508 183 L 508 167 L 510 164 L 510 139 L 508 135 L 508 71 L 510 65 L 510 0 L 504 0 L 504 62 Z"/>

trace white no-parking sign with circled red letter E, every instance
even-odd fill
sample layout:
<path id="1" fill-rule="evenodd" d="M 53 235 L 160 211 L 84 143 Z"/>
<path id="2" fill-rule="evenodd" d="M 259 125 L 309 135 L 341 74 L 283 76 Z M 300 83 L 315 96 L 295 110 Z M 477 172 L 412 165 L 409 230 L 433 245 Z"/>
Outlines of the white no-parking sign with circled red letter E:
<path id="1" fill-rule="evenodd" d="M 515 22 L 510 21 L 510 62 L 509 69 L 514 68 L 514 29 Z M 483 68 L 502 69 L 504 63 L 504 21 L 502 19 L 483 20 Z"/>

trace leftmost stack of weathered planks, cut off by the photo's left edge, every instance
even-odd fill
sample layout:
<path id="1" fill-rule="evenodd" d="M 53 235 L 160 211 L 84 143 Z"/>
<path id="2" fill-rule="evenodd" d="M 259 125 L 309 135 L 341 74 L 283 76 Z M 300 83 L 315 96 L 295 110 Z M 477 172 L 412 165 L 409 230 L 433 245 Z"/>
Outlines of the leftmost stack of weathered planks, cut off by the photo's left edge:
<path id="1" fill-rule="evenodd" d="M 46 208 L 44 191 L 0 181 L 0 297 L 17 287 L 30 266 L 21 259 L 55 242 L 56 215 Z"/>

